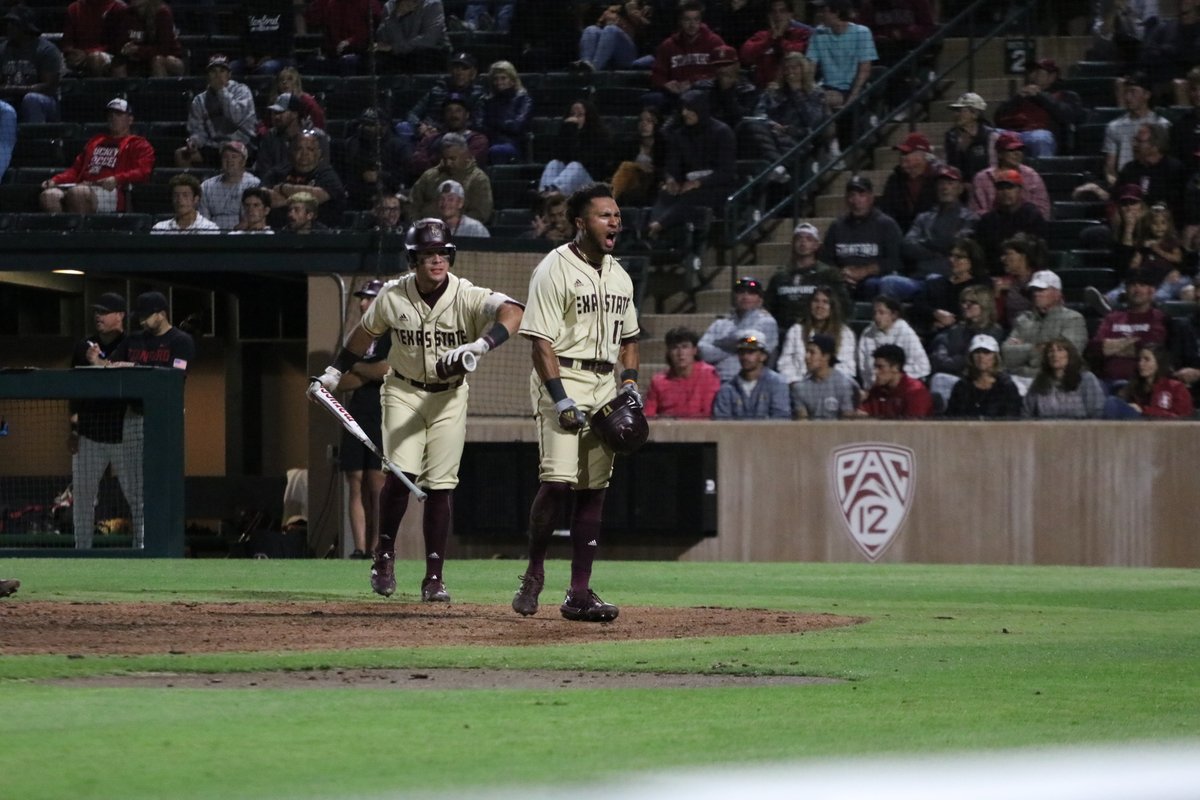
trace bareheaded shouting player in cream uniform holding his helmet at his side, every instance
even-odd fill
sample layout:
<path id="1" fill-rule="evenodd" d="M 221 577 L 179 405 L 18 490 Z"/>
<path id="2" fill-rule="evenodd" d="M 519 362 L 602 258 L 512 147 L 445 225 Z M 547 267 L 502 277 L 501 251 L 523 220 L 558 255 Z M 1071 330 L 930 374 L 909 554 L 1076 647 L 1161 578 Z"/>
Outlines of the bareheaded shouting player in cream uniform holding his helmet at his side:
<path id="1" fill-rule="evenodd" d="M 533 343 L 529 379 L 538 417 L 538 494 L 529 510 L 529 566 L 512 599 L 512 610 L 538 610 L 545 583 L 546 551 L 571 503 L 571 584 L 559 607 L 569 620 L 605 622 L 618 609 L 592 591 L 592 563 L 600 542 L 605 489 L 613 451 L 588 427 L 588 414 L 618 391 L 613 368 L 620 361 L 620 392 L 637 395 L 637 309 L 634 282 L 612 257 L 620 233 L 620 209 L 612 188 L 593 184 L 568 200 L 575 239 L 541 260 L 529 281 L 521 335 Z"/>

